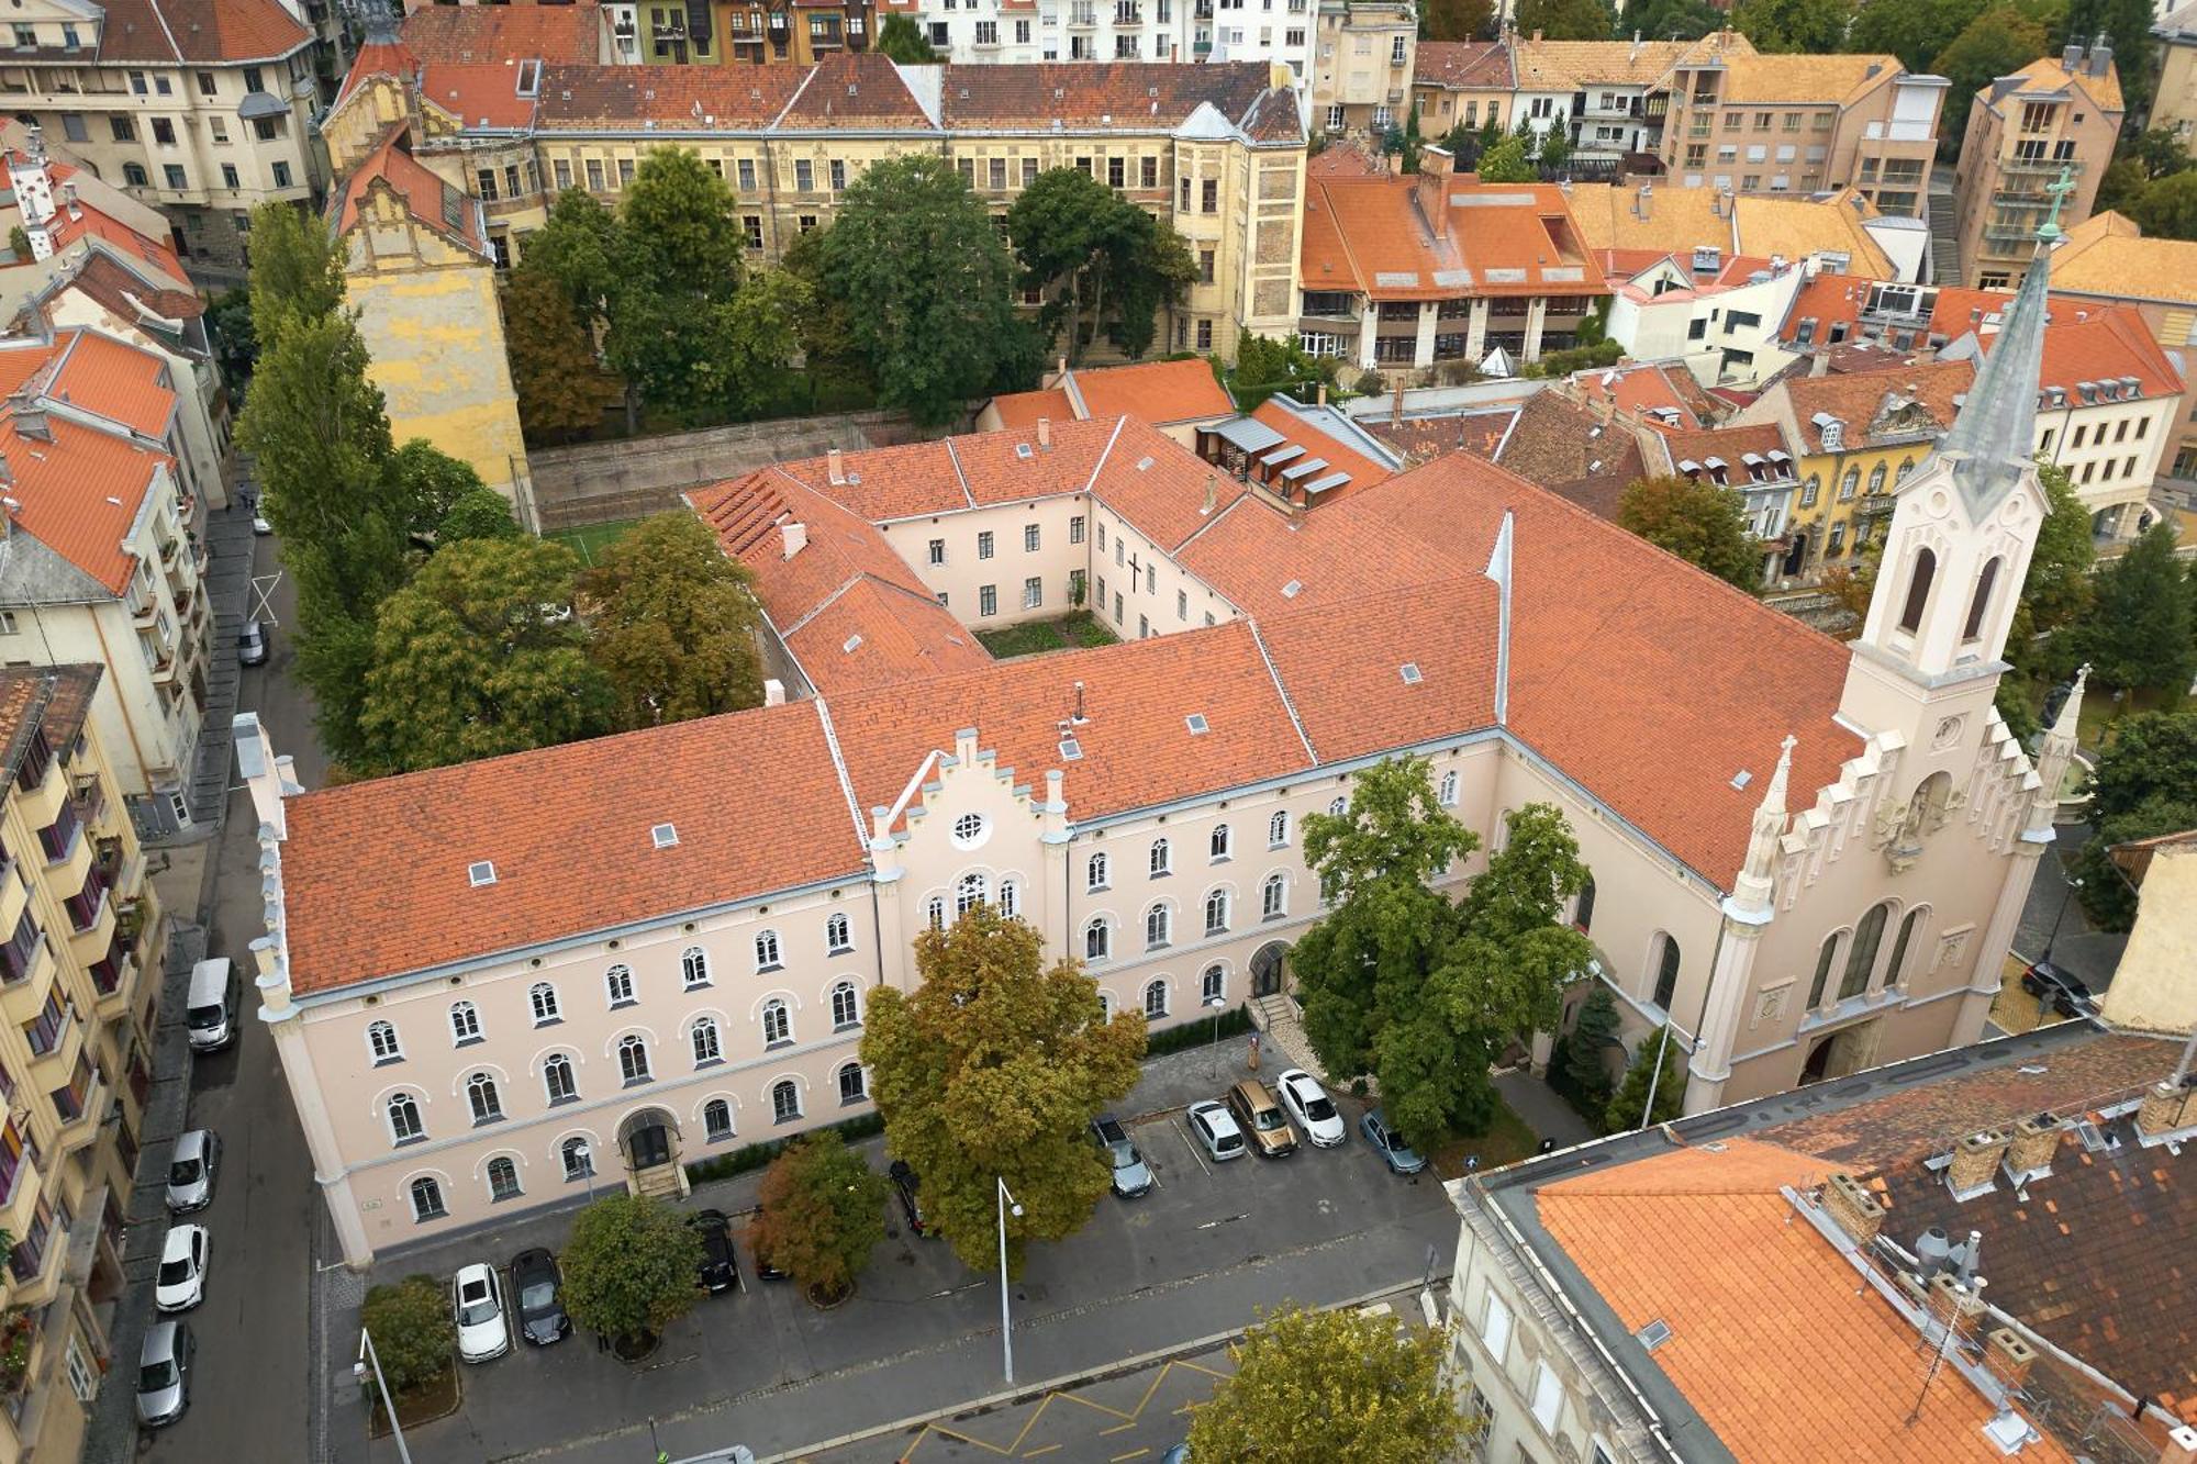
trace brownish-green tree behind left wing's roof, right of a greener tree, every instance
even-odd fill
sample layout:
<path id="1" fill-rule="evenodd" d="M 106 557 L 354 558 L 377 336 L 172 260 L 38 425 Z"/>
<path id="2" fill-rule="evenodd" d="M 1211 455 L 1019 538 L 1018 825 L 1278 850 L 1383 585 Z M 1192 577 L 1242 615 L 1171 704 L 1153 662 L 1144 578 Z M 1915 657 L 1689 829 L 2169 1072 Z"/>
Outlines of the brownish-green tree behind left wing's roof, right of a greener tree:
<path id="1" fill-rule="evenodd" d="M 747 569 L 694 514 L 672 510 L 635 525 L 580 578 L 580 594 L 589 655 L 617 699 L 620 725 L 762 706 Z"/>

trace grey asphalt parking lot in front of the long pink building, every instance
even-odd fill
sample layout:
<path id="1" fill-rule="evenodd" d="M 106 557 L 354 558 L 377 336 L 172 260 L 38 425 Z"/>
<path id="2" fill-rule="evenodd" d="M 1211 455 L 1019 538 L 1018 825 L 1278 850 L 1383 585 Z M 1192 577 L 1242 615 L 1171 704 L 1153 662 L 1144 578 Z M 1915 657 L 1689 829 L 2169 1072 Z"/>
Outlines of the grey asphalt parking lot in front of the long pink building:
<path id="1" fill-rule="evenodd" d="M 1290 1158 L 1222 1165 L 1204 1156 L 1180 1110 L 1244 1075 L 1244 1044 L 1224 1044 L 1219 1079 L 1211 1062 L 1204 1051 L 1158 1060 L 1123 1103 L 1123 1114 L 1140 1114 L 1131 1136 L 1151 1163 L 1151 1194 L 1109 1196 L 1083 1231 L 1030 1249 L 1011 1295 L 1022 1387 L 1208 1339 L 1281 1301 L 1336 1304 L 1448 1271 L 1457 1220 L 1441 1183 L 1432 1174 L 1391 1176 L 1356 1132 L 1362 1106 L 1347 1097 L 1338 1103 L 1351 1139 L 1338 1150 L 1305 1145 Z M 879 1143 L 863 1152 L 883 1167 Z M 760 1174 L 749 1174 L 696 1189 L 688 1207 L 738 1216 L 754 1207 L 758 1183 Z M 413 1455 L 635 1460 L 648 1457 L 650 1424 L 674 1460 L 736 1442 L 773 1455 L 1000 1394 L 997 1273 L 971 1273 L 945 1242 L 910 1235 L 896 1207 L 888 1222 L 892 1233 L 859 1290 L 830 1312 L 787 1284 L 758 1284 L 743 1240 L 745 1288 L 699 1301 L 646 1363 L 622 1365 L 576 1337 L 466 1367 L 459 1411 L 417 1427 Z M 393 1255 L 369 1279 L 448 1277 L 475 1260 L 508 1264 L 532 1244 L 558 1249 L 567 1224 L 562 1213 L 538 1216 Z M 349 1282 L 349 1306 L 338 1299 L 332 1317 L 330 1352 L 345 1363 L 345 1376 L 330 1380 L 332 1453 L 347 1462 L 395 1457 L 391 1442 L 367 1442 L 347 1376 L 363 1293 Z"/>

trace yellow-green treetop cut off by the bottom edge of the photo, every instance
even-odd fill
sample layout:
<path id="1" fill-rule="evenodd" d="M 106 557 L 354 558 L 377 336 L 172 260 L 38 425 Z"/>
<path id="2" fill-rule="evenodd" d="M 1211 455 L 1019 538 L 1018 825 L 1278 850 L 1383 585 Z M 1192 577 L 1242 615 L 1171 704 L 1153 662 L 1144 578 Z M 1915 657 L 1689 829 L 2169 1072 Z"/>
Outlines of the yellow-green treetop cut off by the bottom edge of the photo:
<path id="1" fill-rule="evenodd" d="M 1443 1334 L 1356 1310 L 1270 1312 L 1235 1347 L 1235 1376 L 1191 1409 L 1197 1464 L 1439 1464 L 1474 1424 L 1441 1376 Z"/>

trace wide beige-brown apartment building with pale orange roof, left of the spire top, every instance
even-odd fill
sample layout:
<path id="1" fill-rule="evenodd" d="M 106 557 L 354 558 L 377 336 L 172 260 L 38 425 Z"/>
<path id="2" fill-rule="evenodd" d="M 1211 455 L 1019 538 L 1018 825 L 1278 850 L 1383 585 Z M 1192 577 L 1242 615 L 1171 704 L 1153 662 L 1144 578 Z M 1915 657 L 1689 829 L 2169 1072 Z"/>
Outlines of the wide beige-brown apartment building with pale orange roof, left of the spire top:
<path id="1" fill-rule="evenodd" d="M 1944 77 L 1889 55 L 1755 55 L 1727 37 L 1672 66 L 1663 169 L 1738 193 L 1859 189 L 1881 213 L 1922 218 Z"/>

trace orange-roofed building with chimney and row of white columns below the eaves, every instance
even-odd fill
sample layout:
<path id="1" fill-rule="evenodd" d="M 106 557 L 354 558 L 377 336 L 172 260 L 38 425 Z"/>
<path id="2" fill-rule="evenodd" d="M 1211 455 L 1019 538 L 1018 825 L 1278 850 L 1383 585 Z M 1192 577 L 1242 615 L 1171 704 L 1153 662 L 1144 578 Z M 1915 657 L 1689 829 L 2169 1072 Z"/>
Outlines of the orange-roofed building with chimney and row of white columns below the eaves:
<path id="1" fill-rule="evenodd" d="M 1316 178 L 1305 202 L 1298 341 L 1360 369 L 1512 363 L 1575 343 L 1608 297 L 1564 189 L 1419 174 Z"/>

